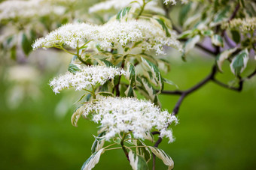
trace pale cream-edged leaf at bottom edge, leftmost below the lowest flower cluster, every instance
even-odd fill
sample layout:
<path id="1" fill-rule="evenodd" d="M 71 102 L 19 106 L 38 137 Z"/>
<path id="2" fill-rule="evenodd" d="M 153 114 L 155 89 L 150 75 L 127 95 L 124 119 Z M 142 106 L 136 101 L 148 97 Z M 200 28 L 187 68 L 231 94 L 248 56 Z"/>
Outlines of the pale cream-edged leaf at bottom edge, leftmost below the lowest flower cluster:
<path id="1" fill-rule="evenodd" d="M 81 170 L 90 170 L 93 169 L 94 166 L 96 166 L 97 163 L 99 163 L 99 158 L 101 154 L 104 153 L 104 149 L 100 149 L 97 152 L 94 152 L 87 161 L 84 162 L 83 166 L 81 167 Z"/>

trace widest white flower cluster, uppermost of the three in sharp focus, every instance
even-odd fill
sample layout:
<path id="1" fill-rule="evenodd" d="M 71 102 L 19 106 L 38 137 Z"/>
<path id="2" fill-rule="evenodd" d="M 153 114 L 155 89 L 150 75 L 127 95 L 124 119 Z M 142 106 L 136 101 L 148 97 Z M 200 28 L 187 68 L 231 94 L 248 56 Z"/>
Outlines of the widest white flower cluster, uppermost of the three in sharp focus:
<path id="1" fill-rule="evenodd" d="M 171 36 L 166 37 L 166 32 L 160 24 L 145 19 L 131 19 L 127 22 L 113 20 L 104 25 L 77 23 L 63 25 L 46 37 L 36 40 L 32 46 L 33 49 L 37 49 L 66 44 L 76 49 L 78 42 L 81 44 L 84 40 L 91 40 L 93 43 L 99 43 L 102 49 L 111 48 L 113 43 L 117 47 L 142 42 L 140 43 L 142 49 L 152 49 L 158 54 L 164 53 L 163 46 L 173 46 L 181 51 L 181 44 L 176 40 L 175 33 L 169 32 Z"/>

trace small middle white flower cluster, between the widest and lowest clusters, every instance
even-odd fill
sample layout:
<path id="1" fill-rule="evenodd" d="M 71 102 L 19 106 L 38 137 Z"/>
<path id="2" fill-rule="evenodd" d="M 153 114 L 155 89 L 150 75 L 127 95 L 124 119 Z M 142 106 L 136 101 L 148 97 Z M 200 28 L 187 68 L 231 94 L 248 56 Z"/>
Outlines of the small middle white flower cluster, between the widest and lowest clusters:
<path id="1" fill-rule="evenodd" d="M 76 91 L 90 89 L 98 84 L 103 85 L 108 79 L 113 79 L 114 76 L 126 74 L 120 68 L 91 66 L 81 67 L 80 71 L 73 73 L 67 72 L 64 75 L 54 78 L 50 81 L 50 86 L 55 94 L 65 88 L 75 88 Z"/>

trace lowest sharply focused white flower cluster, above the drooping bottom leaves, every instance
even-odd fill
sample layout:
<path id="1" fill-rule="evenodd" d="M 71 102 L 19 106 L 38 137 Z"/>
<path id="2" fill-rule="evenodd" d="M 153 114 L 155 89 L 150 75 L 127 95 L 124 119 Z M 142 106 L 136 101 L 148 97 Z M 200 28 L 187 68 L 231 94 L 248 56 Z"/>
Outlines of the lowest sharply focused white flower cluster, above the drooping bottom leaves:
<path id="1" fill-rule="evenodd" d="M 136 139 L 145 139 L 151 130 L 160 130 L 160 136 L 166 136 L 169 142 L 174 140 L 172 130 L 166 127 L 172 122 L 177 124 L 177 118 L 149 101 L 131 97 L 101 97 L 83 107 L 84 117 L 92 114 L 92 121 L 106 130 L 106 140 L 121 132 L 133 132 Z"/>

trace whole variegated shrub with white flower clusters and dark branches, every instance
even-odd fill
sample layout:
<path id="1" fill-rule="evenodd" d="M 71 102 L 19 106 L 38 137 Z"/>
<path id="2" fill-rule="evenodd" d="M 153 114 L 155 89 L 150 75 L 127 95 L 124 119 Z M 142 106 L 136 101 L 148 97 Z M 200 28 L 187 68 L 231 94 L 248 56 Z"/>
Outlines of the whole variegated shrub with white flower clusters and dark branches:
<path id="1" fill-rule="evenodd" d="M 35 2 L 70 10 L 69 3 L 63 4 L 62 1 L 20 1 L 24 8 L 29 2 L 34 5 L 35 11 L 38 9 Z M 10 5 L 12 3 L 0 4 L 0 10 L 5 13 L 0 17 L 1 22 L 9 19 L 19 23 L 16 18 L 20 17 L 20 13 L 15 5 Z M 179 5 L 178 21 L 173 18 L 176 16 L 171 15 L 175 4 Z M 250 53 L 255 52 L 255 5 L 254 1 L 244 0 L 215 0 L 214 3 L 196 0 L 108 0 L 93 4 L 88 9 L 87 15 L 92 18 L 98 16 L 92 20 L 98 19 L 100 23 L 81 22 L 84 19 L 81 19 L 83 15 L 76 14 L 79 11 L 70 11 L 71 14 L 66 16 L 66 13 L 48 10 L 48 13 L 39 13 L 38 20 L 44 16 L 59 15 L 65 21 L 53 22 L 58 25 L 53 27 L 42 22 L 44 26 L 40 28 L 44 30 L 46 27 L 50 33 L 42 35 L 35 31 L 35 36 L 32 36 L 27 33 L 33 31 L 28 26 L 32 22 L 27 19 L 33 15 L 22 13 L 20 18 L 26 21 L 18 27 L 19 34 L 23 35 L 22 43 L 12 40 L 15 34 L 11 35 L 11 40 L 6 39 L 9 34 L 0 40 L 4 49 L 13 50 L 12 58 L 19 45 L 26 55 L 32 49 L 39 48 L 59 49 L 72 55 L 68 72 L 53 78 L 50 87 L 55 94 L 66 88 L 81 91 L 82 96 L 77 101 L 80 106 L 72 115 L 74 126 L 78 126 L 81 117 L 99 124 L 92 155 L 81 169 L 93 169 L 102 154 L 114 149 L 123 151 L 133 169 L 148 169 L 151 158 L 152 169 L 156 169 L 156 157 L 163 160 L 168 169 L 173 169 L 172 158 L 158 146 L 164 138 L 174 141 L 171 124 L 178 123 L 175 115 L 183 100 L 208 82 L 242 91 L 245 80 L 256 75 L 256 70 L 248 76 L 242 75 L 248 62 L 253 60 Z M 76 18 L 81 20 L 78 22 Z M 209 40 L 209 43 L 203 40 Z M 166 84 L 175 85 L 163 76 L 170 70 L 169 61 L 163 57 L 166 52 L 169 53 L 168 47 L 180 52 L 184 61 L 190 50 L 198 47 L 215 58 L 212 71 L 187 90 L 164 90 Z M 230 63 L 230 70 L 238 80 L 236 85 L 226 85 L 216 78 L 217 73 L 223 72 L 225 61 Z M 138 94 L 145 99 L 139 100 Z M 172 112 L 161 109 L 160 94 L 179 96 Z M 145 140 L 154 142 L 154 146 L 146 145 Z M 105 146 L 106 141 L 112 143 Z"/>

